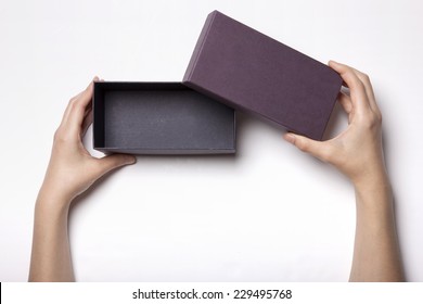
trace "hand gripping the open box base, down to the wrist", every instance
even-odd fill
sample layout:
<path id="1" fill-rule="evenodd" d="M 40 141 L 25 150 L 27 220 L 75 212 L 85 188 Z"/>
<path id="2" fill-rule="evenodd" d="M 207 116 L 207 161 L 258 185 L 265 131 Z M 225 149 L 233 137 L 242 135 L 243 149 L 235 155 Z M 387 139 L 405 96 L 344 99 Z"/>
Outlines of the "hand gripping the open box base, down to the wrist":
<path id="1" fill-rule="evenodd" d="M 97 77 L 93 81 L 99 80 Z M 69 204 L 97 179 L 117 167 L 133 164 L 136 157 L 112 154 L 102 159 L 91 156 L 82 144 L 82 137 L 92 123 L 91 98 L 93 81 L 87 89 L 72 98 L 54 134 L 50 163 L 40 195 Z"/>

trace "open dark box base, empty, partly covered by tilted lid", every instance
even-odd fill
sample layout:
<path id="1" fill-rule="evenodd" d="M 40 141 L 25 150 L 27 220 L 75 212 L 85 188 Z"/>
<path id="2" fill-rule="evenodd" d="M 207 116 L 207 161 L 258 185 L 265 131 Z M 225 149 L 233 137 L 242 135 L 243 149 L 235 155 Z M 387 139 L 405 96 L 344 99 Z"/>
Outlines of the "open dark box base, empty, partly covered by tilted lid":
<path id="1" fill-rule="evenodd" d="M 234 115 L 180 83 L 95 83 L 93 145 L 131 154 L 234 153 Z"/>

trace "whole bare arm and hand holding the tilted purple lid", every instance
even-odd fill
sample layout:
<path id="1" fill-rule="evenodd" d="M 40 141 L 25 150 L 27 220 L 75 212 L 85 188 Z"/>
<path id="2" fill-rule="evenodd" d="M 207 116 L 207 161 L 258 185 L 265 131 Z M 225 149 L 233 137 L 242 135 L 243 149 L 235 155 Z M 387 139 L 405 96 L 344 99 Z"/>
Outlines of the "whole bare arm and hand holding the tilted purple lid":
<path id="1" fill-rule="evenodd" d="M 294 134 L 286 134 L 285 139 L 334 165 L 355 187 L 357 227 L 349 280 L 402 281 L 392 187 L 382 148 L 382 114 L 366 74 L 335 62 L 330 66 L 349 88 L 349 94 L 341 93 L 338 99 L 348 114 L 348 128 L 322 142 Z"/>

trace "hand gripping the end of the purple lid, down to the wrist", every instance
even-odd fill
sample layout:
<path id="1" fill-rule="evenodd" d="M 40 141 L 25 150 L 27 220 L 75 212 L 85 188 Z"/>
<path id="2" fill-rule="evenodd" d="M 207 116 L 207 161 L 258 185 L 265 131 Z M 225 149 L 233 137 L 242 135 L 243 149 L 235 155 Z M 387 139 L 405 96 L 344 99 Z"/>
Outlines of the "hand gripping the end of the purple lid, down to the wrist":
<path id="1" fill-rule="evenodd" d="M 348 127 L 326 141 L 316 141 L 287 132 L 284 139 L 344 173 L 357 186 L 384 176 L 382 114 L 369 77 L 347 65 L 329 62 L 344 79 L 349 94 L 341 92 L 338 101 L 348 114 Z"/>

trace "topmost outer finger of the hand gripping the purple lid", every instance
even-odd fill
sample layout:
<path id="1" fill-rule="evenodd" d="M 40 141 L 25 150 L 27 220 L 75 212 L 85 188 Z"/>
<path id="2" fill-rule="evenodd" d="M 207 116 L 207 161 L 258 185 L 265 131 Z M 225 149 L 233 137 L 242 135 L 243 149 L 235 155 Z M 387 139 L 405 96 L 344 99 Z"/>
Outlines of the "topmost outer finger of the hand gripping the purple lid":
<path id="1" fill-rule="evenodd" d="M 371 109 L 364 84 L 358 77 L 357 72 L 348 65 L 334 61 L 330 61 L 329 66 L 335 69 L 348 86 L 351 96 L 351 103 L 352 106 L 357 109 L 357 112 L 363 113 L 364 111 Z"/>

